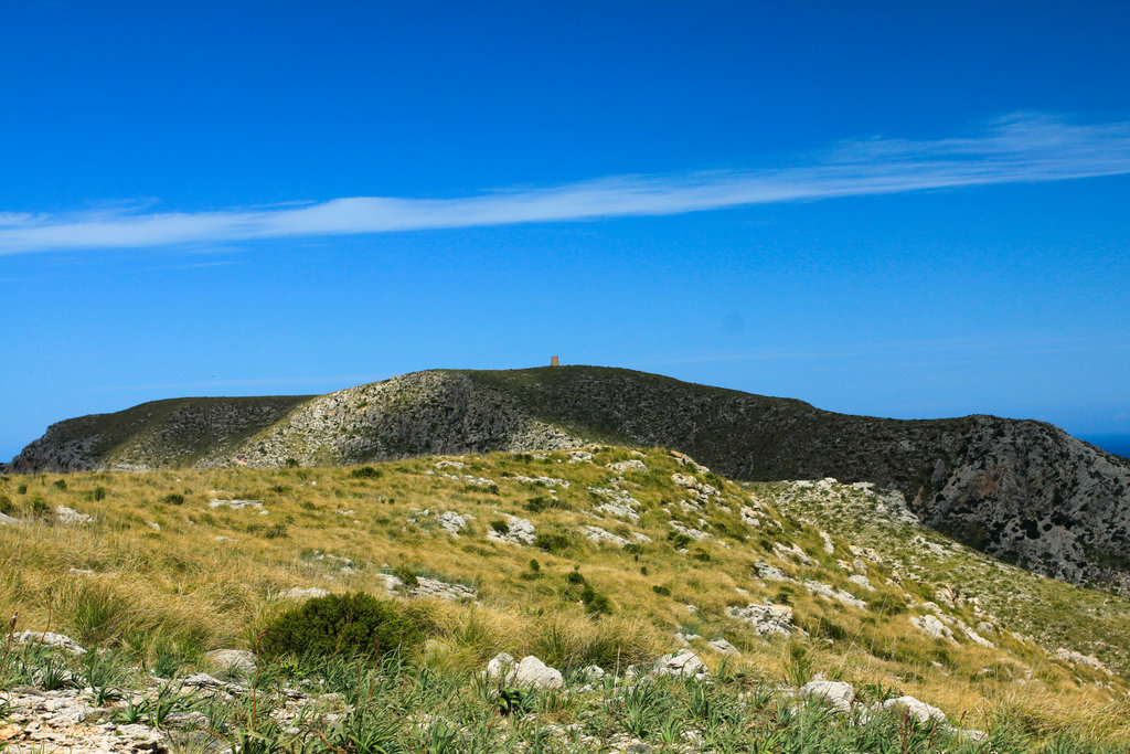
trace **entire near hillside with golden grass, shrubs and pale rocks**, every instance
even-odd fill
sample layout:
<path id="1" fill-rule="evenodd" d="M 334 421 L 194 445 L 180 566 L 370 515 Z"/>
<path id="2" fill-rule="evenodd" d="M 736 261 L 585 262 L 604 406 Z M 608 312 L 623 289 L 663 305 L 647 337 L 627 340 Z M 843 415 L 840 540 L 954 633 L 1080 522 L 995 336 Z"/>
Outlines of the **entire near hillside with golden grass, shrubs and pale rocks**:
<path id="1" fill-rule="evenodd" d="M 601 445 L 10 476 L 0 510 L 15 751 L 1130 745 L 1130 601 L 988 561 L 867 485 Z"/>

